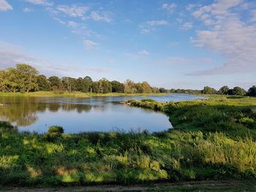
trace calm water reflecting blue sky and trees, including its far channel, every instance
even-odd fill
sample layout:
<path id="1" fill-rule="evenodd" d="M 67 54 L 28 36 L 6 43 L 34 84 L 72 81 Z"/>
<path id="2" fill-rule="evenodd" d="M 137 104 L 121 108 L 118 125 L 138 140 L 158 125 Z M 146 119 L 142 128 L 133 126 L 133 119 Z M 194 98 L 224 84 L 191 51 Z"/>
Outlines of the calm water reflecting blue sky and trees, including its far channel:
<path id="1" fill-rule="evenodd" d="M 187 94 L 165 96 L 0 97 L 0 120 L 7 120 L 19 131 L 45 133 L 49 126 L 62 126 L 65 133 L 85 131 L 164 131 L 172 128 L 162 112 L 130 107 L 121 102 L 150 98 L 156 101 L 188 101 L 206 97 Z"/>

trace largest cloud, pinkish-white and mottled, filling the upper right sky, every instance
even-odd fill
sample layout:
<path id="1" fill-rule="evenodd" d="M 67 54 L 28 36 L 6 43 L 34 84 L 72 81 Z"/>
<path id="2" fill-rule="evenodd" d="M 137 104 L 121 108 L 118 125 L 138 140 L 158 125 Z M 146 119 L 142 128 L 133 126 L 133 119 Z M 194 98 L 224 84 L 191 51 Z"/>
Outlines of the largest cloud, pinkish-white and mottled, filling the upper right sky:
<path id="1" fill-rule="evenodd" d="M 253 15 L 242 20 L 241 12 L 233 10 L 242 3 L 242 0 L 219 0 L 192 12 L 205 28 L 196 31 L 197 37 L 191 42 L 221 54 L 226 61 L 214 69 L 192 72 L 191 75 L 256 72 L 256 23 L 248 23 Z"/>

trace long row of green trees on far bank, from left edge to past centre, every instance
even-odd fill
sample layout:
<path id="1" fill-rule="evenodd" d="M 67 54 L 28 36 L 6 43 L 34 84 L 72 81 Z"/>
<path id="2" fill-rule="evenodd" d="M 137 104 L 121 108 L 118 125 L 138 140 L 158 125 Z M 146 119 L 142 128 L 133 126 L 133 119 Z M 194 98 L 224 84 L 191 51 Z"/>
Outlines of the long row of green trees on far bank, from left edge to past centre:
<path id="1" fill-rule="evenodd" d="M 163 89 L 163 88 L 162 88 Z M 17 64 L 15 68 L 0 71 L 0 91 L 28 93 L 33 91 L 54 91 L 64 93 L 159 93 L 162 89 L 151 87 L 148 82 L 135 83 L 132 80 L 118 82 L 102 78 L 93 81 L 91 77 L 45 77 L 37 69 L 27 64 Z M 163 93 L 163 92 L 162 92 Z"/>

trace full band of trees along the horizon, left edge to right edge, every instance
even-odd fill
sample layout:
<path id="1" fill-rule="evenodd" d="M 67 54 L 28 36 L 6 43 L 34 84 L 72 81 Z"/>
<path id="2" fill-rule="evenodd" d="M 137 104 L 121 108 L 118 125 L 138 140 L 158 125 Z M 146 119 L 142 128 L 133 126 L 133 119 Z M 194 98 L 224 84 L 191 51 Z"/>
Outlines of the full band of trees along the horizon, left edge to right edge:
<path id="1" fill-rule="evenodd" d="M 256 87 L 252 86 L 248 91 L 243 88 L 234 87 L 228 88 L 226 85 L 215 90 L 211 87 L 204 87 L 203 90 L 192 89 L 170 89 L 156 88 L 148 84 L 148 82 L 133 82 L 126 80 L 118 82 L 117 80 L 107 80 L 102 78 L 98 81 L 93 81 L 91 77 L 46 77 L 39 74 L 37 69 L 28 64 L 17 64 L 0 71 L 0 91 L 8 93 L 29 93 L 37 91 L 51 91 L 56 95 L 74 96 L 80 93 L 187 93 L 187 94 L 224 94 L 238 96 L 256 96 Z M 82 95 L 82 94 L 80 94 Z"/>

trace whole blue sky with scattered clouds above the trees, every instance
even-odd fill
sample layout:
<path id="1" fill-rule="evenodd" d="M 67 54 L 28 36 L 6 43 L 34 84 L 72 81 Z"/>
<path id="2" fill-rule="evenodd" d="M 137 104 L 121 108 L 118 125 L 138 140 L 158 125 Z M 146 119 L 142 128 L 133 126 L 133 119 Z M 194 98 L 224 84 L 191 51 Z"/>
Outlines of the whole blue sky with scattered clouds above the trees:
<path id="1" fill-rule="evenodd" d="M 147 81 L 256 84 L 256 0 L 0 0 L 0 69 Z"/>

